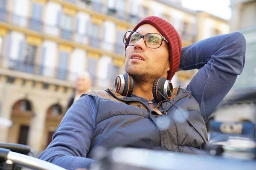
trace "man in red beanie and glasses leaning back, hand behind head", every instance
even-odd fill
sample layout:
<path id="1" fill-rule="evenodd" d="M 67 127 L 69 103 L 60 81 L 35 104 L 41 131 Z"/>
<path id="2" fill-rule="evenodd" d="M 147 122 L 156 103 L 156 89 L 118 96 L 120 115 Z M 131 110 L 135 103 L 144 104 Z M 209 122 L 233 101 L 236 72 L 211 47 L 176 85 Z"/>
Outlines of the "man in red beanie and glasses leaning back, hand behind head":
<path id="1" fill-rule="evenodd" d="M 90 167 L 97 146 L 204 153 L 205 122 L 243 70 L 244 36 L 220 35 L 181 49 L 175 28 L 150 16 L 124 43 L 126 73 L 116 78 L 115 90 L 82 95 L 40 159 L 74 170 Z M 168 89 L 177 70 L 195 68 L 186 89 Z"/>

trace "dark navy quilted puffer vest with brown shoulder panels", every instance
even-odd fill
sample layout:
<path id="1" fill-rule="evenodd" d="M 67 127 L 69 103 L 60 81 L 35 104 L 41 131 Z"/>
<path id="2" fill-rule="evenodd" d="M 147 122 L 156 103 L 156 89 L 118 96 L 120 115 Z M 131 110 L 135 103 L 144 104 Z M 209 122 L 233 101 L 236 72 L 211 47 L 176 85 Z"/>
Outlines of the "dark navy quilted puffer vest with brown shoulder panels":
<path id="1" fill-rule="evenodd" d="M 198 102 L 190 91 L 175 88 L 170 100 L 183 113 L 167 101 L 154 101 L 154 108 L 150 108 L 139 97 L 121 96 L 111 88 L 86 94 L 97 103 L 90 150 L 96 146 L 121 146 L 184 153 L 204 152 L 204 141 L 208 141 L 207 129 Z M 185 116 L 204 140 L 189 125 Z M 91 157 L 90 152 L 87 157 Z"/>

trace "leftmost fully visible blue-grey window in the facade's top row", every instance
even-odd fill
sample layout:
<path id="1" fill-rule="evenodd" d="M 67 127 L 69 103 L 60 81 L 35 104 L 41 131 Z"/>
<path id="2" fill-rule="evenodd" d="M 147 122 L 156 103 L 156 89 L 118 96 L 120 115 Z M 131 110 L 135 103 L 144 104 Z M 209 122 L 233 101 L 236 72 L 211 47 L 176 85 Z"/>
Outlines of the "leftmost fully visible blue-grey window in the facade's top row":
<path id="1" fill-rule="evenodd" d="M 31 3 L 31 18 L 29 19 L 29 29 L 41 32 L 43 6 L 40 3 Z"/>

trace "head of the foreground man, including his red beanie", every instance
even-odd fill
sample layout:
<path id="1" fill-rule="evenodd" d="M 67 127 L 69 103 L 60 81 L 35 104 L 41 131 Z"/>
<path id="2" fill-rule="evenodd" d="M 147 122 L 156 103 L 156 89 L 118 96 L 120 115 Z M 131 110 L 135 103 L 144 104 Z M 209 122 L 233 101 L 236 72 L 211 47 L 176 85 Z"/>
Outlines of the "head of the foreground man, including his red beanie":
<path id="1" fill-rule="evenodd" d="M 125 45 L 125 71 L 138 79 L 167 77 L 171 80 L 180 64 L 181 39 L 175 28 L 160 17 L 150 16 L 141 20 L 133 31 L 141 35 L 158 33 L 167 41 L 159 48 L 148 48 L 143 38 L 133 46 Z M 133 61 L 134 56 L 143 56 L 143 61 Z"/>

